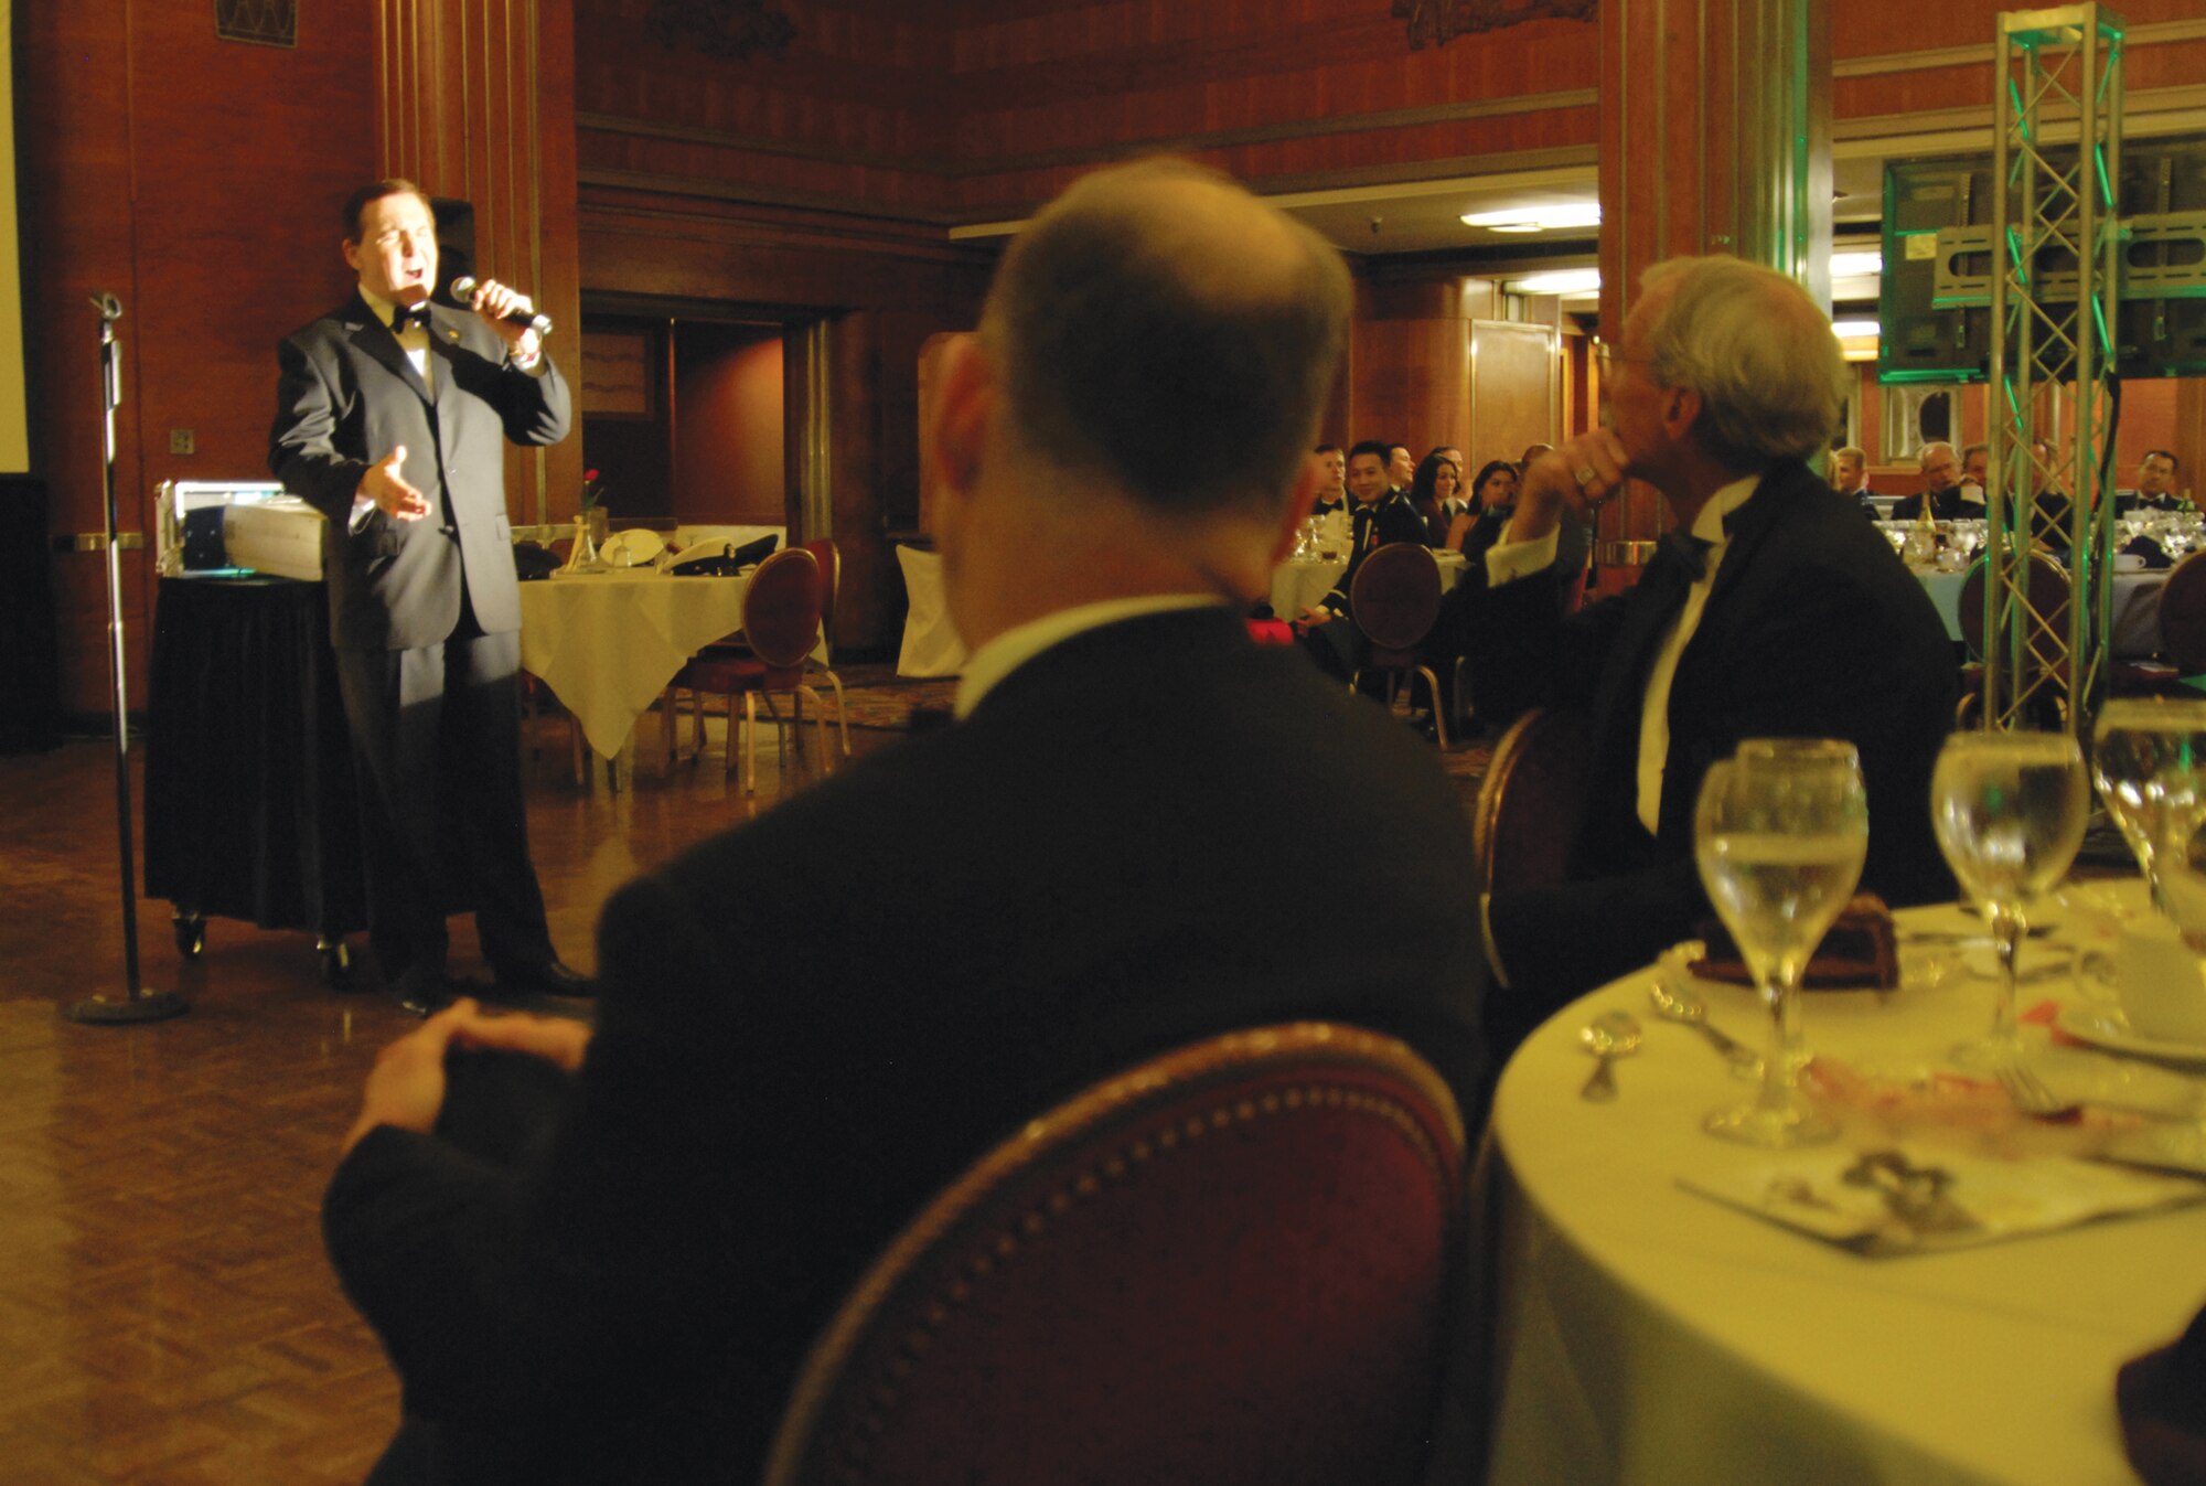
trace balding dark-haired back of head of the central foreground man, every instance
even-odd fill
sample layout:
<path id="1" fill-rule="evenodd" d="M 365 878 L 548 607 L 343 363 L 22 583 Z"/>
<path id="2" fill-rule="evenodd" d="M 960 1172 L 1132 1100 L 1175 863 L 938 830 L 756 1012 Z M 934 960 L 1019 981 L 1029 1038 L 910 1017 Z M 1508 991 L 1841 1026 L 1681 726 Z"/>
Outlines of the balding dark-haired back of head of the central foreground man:
<path id="1" fill-rule="evenodd" d="M 1182 161 L 1099 170 L 1004 254 L 982 344 L 1035 459 L 1160 512 L 1293 487 L 1350 282 L 1317 234 Z"/>

